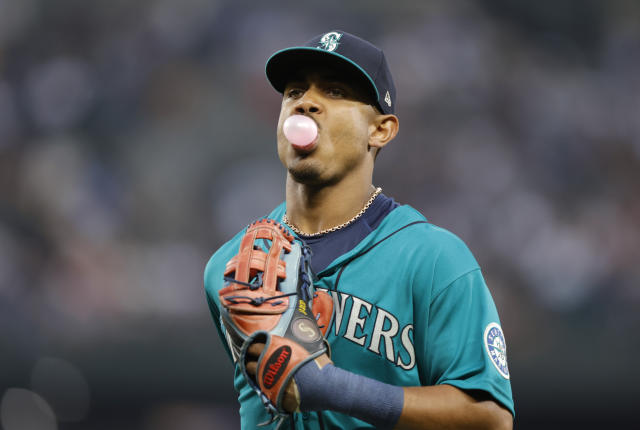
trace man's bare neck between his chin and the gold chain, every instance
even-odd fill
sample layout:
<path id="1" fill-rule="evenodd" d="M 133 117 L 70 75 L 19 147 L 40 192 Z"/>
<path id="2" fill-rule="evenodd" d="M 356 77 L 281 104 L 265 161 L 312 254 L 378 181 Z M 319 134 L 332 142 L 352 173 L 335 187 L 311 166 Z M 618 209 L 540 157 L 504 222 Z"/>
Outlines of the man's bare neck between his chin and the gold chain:
<path id="1" fill-rule="evenodd" d="M 287 218 L 299 230 L 316 233 L 356 216 L 367 203 L 375 187 L 360 178 L 332 185 L 310 186 L 287 176 Z"/>

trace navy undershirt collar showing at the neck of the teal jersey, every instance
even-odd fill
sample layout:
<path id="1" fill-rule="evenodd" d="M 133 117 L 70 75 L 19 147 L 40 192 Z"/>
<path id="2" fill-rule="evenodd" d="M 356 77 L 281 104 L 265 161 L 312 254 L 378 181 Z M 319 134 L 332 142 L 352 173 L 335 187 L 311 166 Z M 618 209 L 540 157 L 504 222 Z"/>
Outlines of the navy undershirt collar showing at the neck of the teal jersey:
<path id="1" fill-rule="evenodd" d="M 380 225 L 389 212 L 400 206 L 391 197 L 379 194 L 360 218 L 348 226 L 320 236 L 300 235 L 313 251 L 311 267 L 320 273 L 339 256 L 351 251 Z"/>

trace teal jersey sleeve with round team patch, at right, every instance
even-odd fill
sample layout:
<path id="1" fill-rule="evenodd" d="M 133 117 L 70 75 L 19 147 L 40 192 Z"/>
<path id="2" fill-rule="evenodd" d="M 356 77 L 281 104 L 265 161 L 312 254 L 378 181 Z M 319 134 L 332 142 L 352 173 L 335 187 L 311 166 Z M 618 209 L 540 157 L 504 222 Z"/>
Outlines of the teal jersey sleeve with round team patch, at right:
<path id="1" fill-rule="evenodd" d="M 484 391 L 515 415 L 506 342 L 480 269 L 461 275 L 432 298 L 426 349 L 432 385 Z"/>

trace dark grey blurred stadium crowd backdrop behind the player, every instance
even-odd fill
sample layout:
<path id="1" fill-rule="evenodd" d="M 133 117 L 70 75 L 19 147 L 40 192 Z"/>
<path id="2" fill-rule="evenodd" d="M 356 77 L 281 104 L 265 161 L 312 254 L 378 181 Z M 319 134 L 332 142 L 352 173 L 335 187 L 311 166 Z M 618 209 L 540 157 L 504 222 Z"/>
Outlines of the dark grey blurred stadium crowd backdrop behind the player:
<path id="1" fill-rule="evenodd" d="M 202 271 L 284 197 L 265 60 L 332 29 L 387 54 L 375 184 L 482 265 L 516 428 L 637 425 L 639 2 L 0 0 L 4 430 L 238 427 Z"/>

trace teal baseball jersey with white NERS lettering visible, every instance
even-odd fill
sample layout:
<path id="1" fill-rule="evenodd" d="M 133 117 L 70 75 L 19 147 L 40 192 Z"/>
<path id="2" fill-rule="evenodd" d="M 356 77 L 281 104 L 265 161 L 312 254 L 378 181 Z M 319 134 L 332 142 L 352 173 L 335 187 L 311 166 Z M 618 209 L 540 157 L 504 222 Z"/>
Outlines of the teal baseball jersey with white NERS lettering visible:
<path id="1" fill-rule="evenodd" d="M 283 203 L 268 217 L 281 222 L 284 212 Z M 243 234 L 224 244 L 205 269 L 207 301 L 227 353 L 218 290 Z M 327 340 L 337 367 L 398 386 L 481 390 L 514 414 L 498 312 L 478 263 L 457 236 L 410 206 L 398 206 L 316 275 L 315 287 L 333 297 Z M 242 428 L 268 421 L 238 366 L 234 386 Z M 374 428 L 333 411 L 297 413 L 291 419 L 283 428 Z"/>

